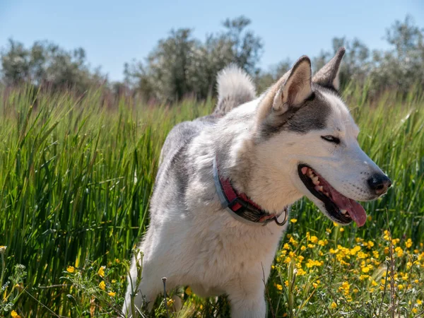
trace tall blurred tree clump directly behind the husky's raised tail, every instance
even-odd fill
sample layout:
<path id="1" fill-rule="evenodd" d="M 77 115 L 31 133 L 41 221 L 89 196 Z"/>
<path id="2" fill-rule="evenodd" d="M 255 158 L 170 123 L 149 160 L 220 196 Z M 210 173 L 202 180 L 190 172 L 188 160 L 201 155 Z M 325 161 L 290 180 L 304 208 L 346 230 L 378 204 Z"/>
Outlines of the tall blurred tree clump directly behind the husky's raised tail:
<path id="1" fill-rule="evenodd" d="M 230 63 L 253 73 L 261 54 L 261 39 L 246 30 L 250 20 L 240 16 L 224 21 L 224 30 L 194 39 L 192 30 L 172 30 L 158 42 L 144 62 L 125 65 L 126 83 L 144 98 L 180 100 L 193 94 L 206 98 L 214 93 L 216 74 Z"/>

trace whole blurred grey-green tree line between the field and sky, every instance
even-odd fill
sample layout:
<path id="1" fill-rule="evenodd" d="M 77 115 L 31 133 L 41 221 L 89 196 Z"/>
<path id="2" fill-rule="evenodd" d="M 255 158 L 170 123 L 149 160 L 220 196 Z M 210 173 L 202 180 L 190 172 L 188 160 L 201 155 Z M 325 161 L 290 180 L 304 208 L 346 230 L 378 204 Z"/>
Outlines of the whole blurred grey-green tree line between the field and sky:
<path id="1" fill-rule="evenodd" d="M 124 64 L 124 81 L 110 82 L 100 68 L 92 69 L 83 48 L 66 51 L 49 41 L 25 47 L 16 40 L 0 50 L 2 86 L 22 83 L 52 90 L 73 89 L 83 93 L 102 86 L 119 95 L 131 93 L 146 101 L 174 102 L 187 96 L 204 99 L 215 93 L 216 73 L 235 63 L 252 75 L 258 91 L 290 69 L 294 61 L 283 59 L 269 69 L 258 64 L 264 49 L 261 37 L 249 28 L 245 16 L 227 19 L 222 30 L 199 40 L 189 28 L 171 30 L 158 41 L 148 57 Z M 338 47 L 346 47 L 341 67 L 341 86 L 349 81 L 366 84 L 370 93 L 424 86 L 424 29 L 411 16 L 396 20 L 384 39 L 389 48 L 369 49 L 361 40 L 334 37 L 332 52 L 322 51 L 312 58 L 314 69 L 322 67 Z"/>

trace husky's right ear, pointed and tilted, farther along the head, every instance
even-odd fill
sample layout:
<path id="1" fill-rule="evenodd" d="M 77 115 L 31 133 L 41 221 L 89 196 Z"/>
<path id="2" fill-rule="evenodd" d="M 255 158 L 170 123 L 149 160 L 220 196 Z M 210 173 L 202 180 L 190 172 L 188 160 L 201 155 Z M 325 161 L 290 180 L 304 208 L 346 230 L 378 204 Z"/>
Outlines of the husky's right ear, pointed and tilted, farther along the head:
<path id="1" fill-rule="evenodd" d="M 322 69 L 317 71 L 317 73 L 312 78 L 312 81 L 321 86 L 338 90 L 340 87 L 338 71 L 340 70 L 341 59 L 343 59 L 345 52 L 346 49 L 344 47 L 338 49 L 336 55 L 334 55 L 334 57 L 327 64 L 322 66 Z"/>

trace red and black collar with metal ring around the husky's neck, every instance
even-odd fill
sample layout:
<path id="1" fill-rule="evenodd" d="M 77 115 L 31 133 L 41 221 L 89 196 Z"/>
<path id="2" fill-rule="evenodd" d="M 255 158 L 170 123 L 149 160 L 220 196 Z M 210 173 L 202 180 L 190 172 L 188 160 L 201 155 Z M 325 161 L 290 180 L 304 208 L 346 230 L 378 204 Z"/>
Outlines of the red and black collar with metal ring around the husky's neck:
<path id="1" fill-rule="evenodd" d="M 259 204 L 254 203 L 244 193 L 238 193 L 232 187 L 229 179 L 224 179 L 218 172 L 216 158 L 213 159 L 213 179 L 215 182 L 216 192 L 223 208 L 227 208 L 232 216 L 238 220 L 254 223 L 255 225 L 266 225 L 275 220 L 278 225 L 284 225 L 287 222 L 288 211 L 284 208 L 285 218 L 282 223 L 278 222 L 279 214 L 266 212 Z"/>

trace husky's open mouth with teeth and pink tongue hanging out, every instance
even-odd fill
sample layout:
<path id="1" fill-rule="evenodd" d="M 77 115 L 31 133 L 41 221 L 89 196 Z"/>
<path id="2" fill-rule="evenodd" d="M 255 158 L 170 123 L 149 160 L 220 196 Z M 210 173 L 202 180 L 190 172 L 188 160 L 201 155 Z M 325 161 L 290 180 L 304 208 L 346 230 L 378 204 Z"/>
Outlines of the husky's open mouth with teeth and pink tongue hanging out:
<path id="1" fill-rule="evenodd" d="M 298 172 L 305 187 L 324 203 L 326 211 L 338 223 L 348 224 L 354 220 L 358 226 L 365 224 L 367 213 L 358 202 L 343 196 L 311 167 L 298 165 Z"/>

